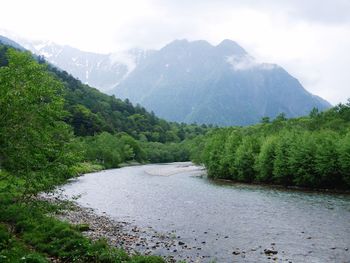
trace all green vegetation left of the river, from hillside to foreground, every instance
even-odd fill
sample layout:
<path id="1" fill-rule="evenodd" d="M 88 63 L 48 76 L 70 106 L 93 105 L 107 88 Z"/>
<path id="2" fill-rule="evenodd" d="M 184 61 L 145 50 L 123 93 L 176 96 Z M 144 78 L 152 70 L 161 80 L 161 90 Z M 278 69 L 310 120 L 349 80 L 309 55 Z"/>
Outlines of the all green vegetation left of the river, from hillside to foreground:
<path id="1" fill-rule="evenodd" d="M 207 128 L 170 124 L 40 61 L 0 45 L 0 261 L 163 262 L 91 242 L 31 196 L 123 162 L 188 159 L 180 141 Z"/>

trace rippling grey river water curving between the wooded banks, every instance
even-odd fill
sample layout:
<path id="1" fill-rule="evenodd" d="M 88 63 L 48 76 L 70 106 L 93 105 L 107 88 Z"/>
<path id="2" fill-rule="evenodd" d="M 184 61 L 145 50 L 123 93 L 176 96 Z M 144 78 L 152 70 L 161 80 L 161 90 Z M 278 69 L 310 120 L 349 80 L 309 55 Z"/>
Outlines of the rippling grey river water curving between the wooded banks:
<path id="1" fill-rule="evenodd" d="M 97 213 L 185 244 L 155 254 L 200 262 L 350 262 L 349 195 L 215 182 L 191 163 L 107 170 L 63 188 Z"/>

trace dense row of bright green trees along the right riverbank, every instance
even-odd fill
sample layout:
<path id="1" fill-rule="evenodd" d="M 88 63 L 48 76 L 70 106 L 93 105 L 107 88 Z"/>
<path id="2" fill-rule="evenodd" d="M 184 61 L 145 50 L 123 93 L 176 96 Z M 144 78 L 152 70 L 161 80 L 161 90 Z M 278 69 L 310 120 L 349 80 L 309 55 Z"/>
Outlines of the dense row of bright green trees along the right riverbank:
<path id="1" fill-rule="evenodd" d="M 221 128 L 193 144 L 211 178 L 310 188 L 350 188 L 350 100 L 308 117 Z"/>

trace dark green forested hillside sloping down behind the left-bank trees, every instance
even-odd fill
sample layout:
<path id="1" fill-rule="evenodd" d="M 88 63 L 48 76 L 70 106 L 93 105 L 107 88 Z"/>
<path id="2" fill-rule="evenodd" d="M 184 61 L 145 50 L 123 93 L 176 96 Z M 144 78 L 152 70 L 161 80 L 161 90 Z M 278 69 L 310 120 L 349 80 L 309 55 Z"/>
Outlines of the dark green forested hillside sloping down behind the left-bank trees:
<path id="1" fill-rule="evenodd" d="M 8 65 L 7 51 L 17 49 L 18 43 L 10 40 L 2 42 L 0 36 L 0 68 Z M 4 41 L 5 42 L 5 41 Z M 24 49 L 18 49 L 23 51 Z M 207 127 L 170 123 L 148 112 L 140 105 L 122 101 L 115 96 L 106 95 L 95 88 L 83 84 L 52 64 L 36 55 L 33 58 L 46 65 L 46 70 L 53 74 L 63 85 L 66 123 L 72 126 L 77 136 L 92 136 L 101 132 L 127 133 L 135 139 L 148 142 L 178 142 L 195 135 L 204 134 Z"/>

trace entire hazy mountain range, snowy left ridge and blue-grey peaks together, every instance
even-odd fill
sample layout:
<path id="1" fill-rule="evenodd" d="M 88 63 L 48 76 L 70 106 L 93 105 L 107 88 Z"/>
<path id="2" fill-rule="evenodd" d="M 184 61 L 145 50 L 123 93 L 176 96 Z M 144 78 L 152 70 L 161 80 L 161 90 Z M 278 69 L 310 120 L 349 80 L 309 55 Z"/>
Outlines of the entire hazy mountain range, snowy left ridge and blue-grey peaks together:
<path id="1" fill-rule="evenodd" d="M 249 125 L 262 117 L 307 115 L 331 105 L 276 64 L 258 63 L 224 40 L 175 40 L 157 51 L 84 52 L 52 42 L 19 43 L 103 92 L 170 121 Z"/>

